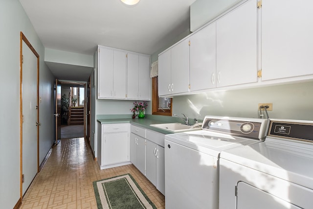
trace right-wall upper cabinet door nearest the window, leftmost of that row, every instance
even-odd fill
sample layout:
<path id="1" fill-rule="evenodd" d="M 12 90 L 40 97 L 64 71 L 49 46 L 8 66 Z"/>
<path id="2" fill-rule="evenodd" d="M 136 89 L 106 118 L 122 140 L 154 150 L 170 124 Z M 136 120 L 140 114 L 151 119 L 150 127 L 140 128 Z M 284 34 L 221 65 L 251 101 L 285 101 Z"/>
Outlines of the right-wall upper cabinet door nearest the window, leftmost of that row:
<path id="1" fill-rule="evenodd" d="M 171 93 L 171 49 L 158 56 L 158 95 Z"/>

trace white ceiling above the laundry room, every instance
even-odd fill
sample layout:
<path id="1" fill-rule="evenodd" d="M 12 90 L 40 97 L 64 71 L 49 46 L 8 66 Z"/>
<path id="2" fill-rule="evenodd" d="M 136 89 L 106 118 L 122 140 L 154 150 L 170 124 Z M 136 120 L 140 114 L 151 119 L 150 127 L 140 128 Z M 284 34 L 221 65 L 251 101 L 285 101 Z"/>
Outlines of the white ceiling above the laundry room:
<path id="1" fill-rule="evenodd" d="M 20 0 L 46 48 L 93 55 L 97 45 L 153 54 L 185 32 L 195 0 Z"/>

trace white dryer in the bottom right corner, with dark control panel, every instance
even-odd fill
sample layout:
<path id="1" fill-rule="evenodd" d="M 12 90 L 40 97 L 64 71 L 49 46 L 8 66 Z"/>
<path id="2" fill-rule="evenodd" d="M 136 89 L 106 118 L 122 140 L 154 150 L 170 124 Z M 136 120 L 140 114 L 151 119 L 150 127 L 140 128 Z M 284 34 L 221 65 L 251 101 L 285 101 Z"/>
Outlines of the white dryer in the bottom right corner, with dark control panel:
<path id="1" fill-rule="evenodd" d="M 220 209 L 313 209 L 313 121 L 270 119 L 265 141 L 223 151 Z"/>

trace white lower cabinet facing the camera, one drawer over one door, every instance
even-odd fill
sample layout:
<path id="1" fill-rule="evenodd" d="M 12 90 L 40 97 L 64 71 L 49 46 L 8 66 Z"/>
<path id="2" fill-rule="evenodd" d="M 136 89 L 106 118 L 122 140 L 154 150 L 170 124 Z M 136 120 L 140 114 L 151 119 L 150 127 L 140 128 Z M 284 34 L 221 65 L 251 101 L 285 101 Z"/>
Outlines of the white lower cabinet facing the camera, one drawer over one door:
<path id="1" fill-rule="evenodd" d="M 98 124 L 97 162 L 100 169 L 130 164 L 130 124 Z"/>

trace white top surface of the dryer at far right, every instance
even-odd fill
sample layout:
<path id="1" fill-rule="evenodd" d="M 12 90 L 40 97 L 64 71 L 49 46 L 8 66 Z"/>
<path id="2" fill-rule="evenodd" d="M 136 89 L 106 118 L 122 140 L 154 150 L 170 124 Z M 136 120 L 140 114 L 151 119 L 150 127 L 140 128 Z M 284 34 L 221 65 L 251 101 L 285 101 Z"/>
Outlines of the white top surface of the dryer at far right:
<path id="1" fill-rule="evenodd" d="M 313 145 L 300 147 L 266 139 L 223 151 L 221 158 L 313 189 Z"/>

